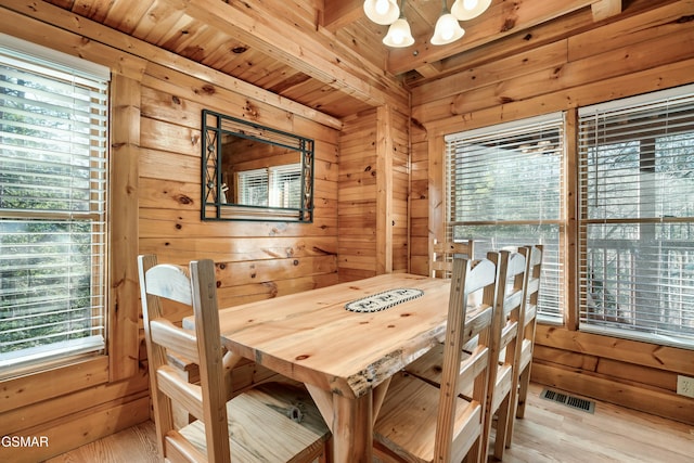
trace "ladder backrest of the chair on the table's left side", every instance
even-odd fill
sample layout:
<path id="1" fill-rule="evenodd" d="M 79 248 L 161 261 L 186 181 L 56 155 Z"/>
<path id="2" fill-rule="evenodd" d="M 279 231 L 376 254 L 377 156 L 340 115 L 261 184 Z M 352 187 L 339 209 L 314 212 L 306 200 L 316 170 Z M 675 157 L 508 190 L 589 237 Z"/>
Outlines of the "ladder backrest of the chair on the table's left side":
<path id="1" fill-rule="evenodd" d="M 219 316 L 211 260 L 192 261 L 189 268 L 157 265 L 156 257 L 138 258 L 142 314 L 150 364 L 160 454 L 165 459 L 229 462 L 226 389 Z M 191 306 L 195 331 L 176 326 L 164 317 L 162 299 Z M 167 362 L 167 352 L 188 358 L 200 365 L 200 385 L 182 378 Z M 204 455 L 175 428 L 174 402 L 205 423 Z"/>

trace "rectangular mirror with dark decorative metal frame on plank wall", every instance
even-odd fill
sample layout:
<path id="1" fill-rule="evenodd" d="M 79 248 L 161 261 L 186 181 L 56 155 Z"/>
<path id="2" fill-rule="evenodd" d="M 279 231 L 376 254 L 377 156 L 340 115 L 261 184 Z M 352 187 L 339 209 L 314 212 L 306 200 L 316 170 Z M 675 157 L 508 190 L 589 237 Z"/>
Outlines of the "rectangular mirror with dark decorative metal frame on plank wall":
<path id="1" fill-rule="evenodd" d="M 203 220 L 313 220 L 313 140 L 203 110 Z"/>

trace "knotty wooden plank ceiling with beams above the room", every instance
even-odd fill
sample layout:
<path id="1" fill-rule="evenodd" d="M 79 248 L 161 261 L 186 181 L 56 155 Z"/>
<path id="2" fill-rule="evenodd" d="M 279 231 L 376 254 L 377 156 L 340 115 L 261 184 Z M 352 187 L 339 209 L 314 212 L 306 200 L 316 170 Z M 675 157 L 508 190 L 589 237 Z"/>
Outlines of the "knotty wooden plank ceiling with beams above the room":
<path id="1" fill-rule="evenodd" d="M 43 8 L 51 17 L 56 16 L 51 11 L 68 12 L 63 24 L 101 23 L 340 118 L 383 104 L 407 111 L 414 87 L 565 38 L 648 2 L 659 3 L 493 0 L 481 16 L 461 23 L 466 30 L 461 40 L 436 47 L 428 40 L 441 0 L 408 0 L 404 14 L 415 43 L 406 49 L 382 43 L 387 26 L 364 16 L 363 0 L 44 0 L 52 5 Z"/>

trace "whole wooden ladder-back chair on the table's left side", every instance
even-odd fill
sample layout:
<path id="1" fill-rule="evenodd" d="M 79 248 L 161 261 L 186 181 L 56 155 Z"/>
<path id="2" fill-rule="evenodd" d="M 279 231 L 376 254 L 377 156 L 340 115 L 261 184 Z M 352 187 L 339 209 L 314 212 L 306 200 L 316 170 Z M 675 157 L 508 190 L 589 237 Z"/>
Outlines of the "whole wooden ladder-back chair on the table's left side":
<path id="1" fill-rule="evenodd" d="M 156 257 L 147 255 L 140 256 L 138 265 L 163 458 L 171 462 L 309 462 L 323 454 L 330 432 L 305 388 L 266 383 L 227 401 L 222 370 L 240 357 L 227 352 L 222 358 L 214 262 L 192 261 L 188 269 L 157 265 Z M 167 320 L 163 299 L 192 306 L 195 331 Z M 169 364 L 169 351 L 200 365 L 200 385 Z M 177 428 L 174 404 L 195 420 Z"/>

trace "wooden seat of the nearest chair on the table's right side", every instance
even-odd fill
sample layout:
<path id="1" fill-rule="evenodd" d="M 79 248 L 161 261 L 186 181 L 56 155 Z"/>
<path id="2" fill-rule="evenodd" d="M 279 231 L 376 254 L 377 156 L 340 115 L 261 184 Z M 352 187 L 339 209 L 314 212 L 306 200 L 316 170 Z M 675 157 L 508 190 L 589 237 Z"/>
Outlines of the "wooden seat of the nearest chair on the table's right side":
<path id="1" fill-rule="evenodd" d="M 406 372 L 397 373 L 378 412 L 374 440 L 407 461 L 432 462 L 439 395 L 439 388 Z M 458 401 L 453 416 L 454 435 L 466 437 L 458 442 L 461 450 L 453 452 L 458 456 L 452 461 L 461 461 L 480 434 L 480 403 L 461 398 Z"/>

